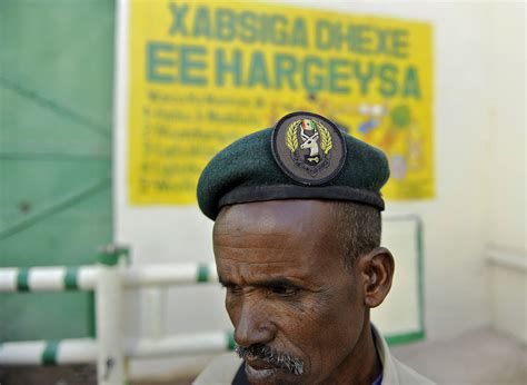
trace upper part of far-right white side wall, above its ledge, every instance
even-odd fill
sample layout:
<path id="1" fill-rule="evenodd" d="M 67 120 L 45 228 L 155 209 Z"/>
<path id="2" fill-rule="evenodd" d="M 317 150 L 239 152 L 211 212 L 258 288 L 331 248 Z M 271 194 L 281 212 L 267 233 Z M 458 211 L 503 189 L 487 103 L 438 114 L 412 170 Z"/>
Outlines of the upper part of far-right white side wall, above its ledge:
<path id="1" fill-rule="evenodd" d="M 488 241 L 526 253 L 525 3 L 493 4 Z"/>

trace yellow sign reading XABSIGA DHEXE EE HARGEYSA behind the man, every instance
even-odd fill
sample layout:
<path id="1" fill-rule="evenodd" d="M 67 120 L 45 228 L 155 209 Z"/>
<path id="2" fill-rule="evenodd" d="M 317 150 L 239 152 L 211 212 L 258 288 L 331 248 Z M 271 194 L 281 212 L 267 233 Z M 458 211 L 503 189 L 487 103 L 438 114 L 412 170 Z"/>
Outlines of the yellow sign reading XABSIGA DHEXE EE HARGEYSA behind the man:
<path id="1" fill-rule="evenodd" d="M 218 150 L 298 110 L 381 148 L 387 199 L 434 196 L 429 24 L 250 2 L 130 11 L 131 204 L 196 203 Z"/>

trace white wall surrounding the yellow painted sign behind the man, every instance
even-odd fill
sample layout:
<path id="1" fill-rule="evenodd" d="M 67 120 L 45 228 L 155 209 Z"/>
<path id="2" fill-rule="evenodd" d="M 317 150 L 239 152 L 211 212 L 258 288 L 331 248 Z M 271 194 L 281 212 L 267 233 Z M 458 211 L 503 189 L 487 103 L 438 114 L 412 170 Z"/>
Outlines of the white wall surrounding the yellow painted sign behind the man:
<path id="1" fill-rule="evenodd" d="M 518 6 L 435 1 L 277 2 L 432 23 L 436 198 L 388 203 L 387 211 L 416 213 L 425 220 L 428 337 L 455 336 L 488 325 L 486 244 L 521 247 L 523 240 L 525 249 L 525 216 L 524 230 L 517 216 L 520 205 L 524 205 L 525 213 L 525 185 L 520 186 L 526 180 L 525 127 L 514 125 L 525 101 L 525 97 L 524 101 L 520 99 L 524 83 L 516 81 L 515 75 L 521 72 L 521 62 L 518 62 L 518 53 L 515 63 L 505 68 L 497 55 L 509 48 L 500 45 L 490 48 L 501 30 L 508 28 L 508 19 L 514 17 Z M 507 11 L 496 12 L 501 8 Z M 519 38 L 510 42 L 513 50 L 524 49 L 518 45 Z M 499 68 L 503 76 L 493 77 L 495 68 Z M 126 72 L 119 76 L 127 79 Z M 120 91 L 126 92 L 126 88 Z M 505 116 L 506 122 L 501 124 Z M 504 125 L 510 125 L 507 135 L 497 130 Z M 212 260 L 212 223 L 196 207 L 142 208 L 127 204 L 127 132 L 121 126 L 116 140 L 117 241 L 132 247 L 132 260 L 138 265 Z M 515 152 L 514 157 L 510 152 Z M 513 160 L 521 162 L 521 155 L 524 168 L 518 170 Z M 501 164 L 504 166 L 498 167 Z M 509 198 L 506 201 L 500 186 L 507 186 Z M 495 204 L 489 205 L 490 201 Z M 178 299 L 172 298 L 169 315 L 172 332 L 229 325 L 219 289 L 187 289 L 185 294 Z M 205 310 L 196 313 L 196 303 Z"/>

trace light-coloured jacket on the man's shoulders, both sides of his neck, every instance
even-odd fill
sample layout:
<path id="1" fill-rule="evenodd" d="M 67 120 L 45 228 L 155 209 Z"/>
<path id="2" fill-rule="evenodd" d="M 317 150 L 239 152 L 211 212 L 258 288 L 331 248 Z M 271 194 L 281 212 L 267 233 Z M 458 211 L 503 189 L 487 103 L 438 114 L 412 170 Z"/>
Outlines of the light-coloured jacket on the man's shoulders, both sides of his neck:
<path id="1" fill-rule="evenodd" d="M 429 385 L 430 379 L 398 362 L 391 356 L 385 338 L 371 326 L 377 352 L 382 363 L 382 385 Z M 195 379 L 193 384 L 231 384 L 238 372 L 241 359 L 236 353 L 222 354 L 215 358 L 209 366 Z"/>

